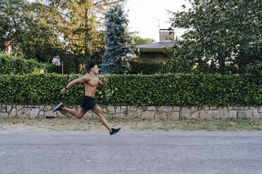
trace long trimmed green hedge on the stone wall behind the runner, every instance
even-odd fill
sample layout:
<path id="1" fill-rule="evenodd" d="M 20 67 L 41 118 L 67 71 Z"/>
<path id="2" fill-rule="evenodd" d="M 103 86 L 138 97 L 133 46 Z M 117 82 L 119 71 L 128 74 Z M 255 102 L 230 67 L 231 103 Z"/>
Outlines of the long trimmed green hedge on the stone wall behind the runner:
<path id="1" fill-rule="evenodd" d="M 80 105 L 84 84 L 61 89 L 81 74 L 0 75 L 0 104 Z M 98 88 L 99 105 L 173 105 L 179 107 L 261 106 L 262 78 L 213 74 L 110 75 Z M 99 76 L 103 81 L 103 76 Z"/>

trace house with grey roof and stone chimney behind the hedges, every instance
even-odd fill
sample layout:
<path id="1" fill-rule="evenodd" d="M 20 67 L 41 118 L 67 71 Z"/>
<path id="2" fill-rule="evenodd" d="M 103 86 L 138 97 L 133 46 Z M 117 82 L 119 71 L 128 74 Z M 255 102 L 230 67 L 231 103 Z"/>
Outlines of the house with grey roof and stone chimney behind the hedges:
<path id="1" fill-rule="evenodd" d="M 159 41 L 136 46 L 138 62 L 166 62 L 163 47 L 173 47 L 175 33 L 168 29 L 159 29 Z"/>

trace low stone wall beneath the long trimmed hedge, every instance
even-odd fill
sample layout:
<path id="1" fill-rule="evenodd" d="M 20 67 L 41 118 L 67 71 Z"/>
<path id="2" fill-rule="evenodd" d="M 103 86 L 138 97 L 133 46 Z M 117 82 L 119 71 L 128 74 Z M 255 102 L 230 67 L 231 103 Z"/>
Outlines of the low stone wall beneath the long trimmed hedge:
<path id="1" fill-rule="evenodd" d="M 78 107 L 71 107 L 78 109 Z M 134 107 L 102 106 L 105 116 L 142 119 L 262 119 L 262 107 Z M 71 116 L 67 112 L 56 112 L 54 106 L 0 105 L 0 118 L 46 118 L 46 116 Z M 95 117 L 87 112 L 85 117 Z"/>

